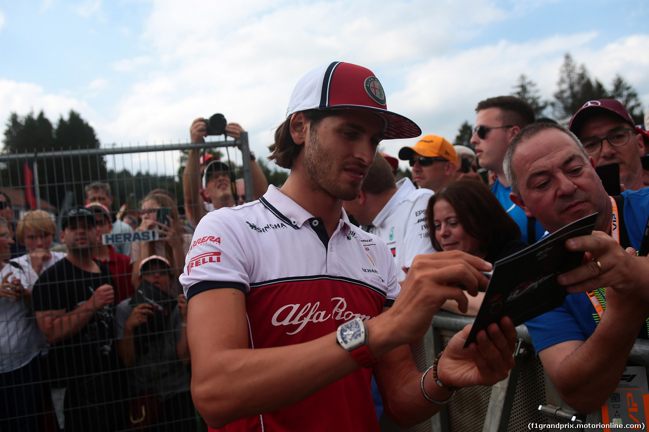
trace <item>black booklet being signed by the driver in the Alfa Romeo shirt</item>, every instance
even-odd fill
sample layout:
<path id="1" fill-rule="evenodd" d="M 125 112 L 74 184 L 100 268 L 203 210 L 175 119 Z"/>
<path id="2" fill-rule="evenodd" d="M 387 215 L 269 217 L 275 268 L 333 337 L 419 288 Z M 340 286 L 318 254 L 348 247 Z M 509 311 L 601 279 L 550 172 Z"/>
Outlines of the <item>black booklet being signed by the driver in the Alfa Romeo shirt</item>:
<path id="1" fill-rule="evenodd" d="M 583 217 L 537 243 L 496 261 L 485 298 L 464 347 L 476 341 L 480 330 L 509 317 L 515 326 L 561 306 L 565 287 L 557 276 L 582 264 L 583 252 L 570 252 L 565 242 L 593 232 L 597 213 Z"/>

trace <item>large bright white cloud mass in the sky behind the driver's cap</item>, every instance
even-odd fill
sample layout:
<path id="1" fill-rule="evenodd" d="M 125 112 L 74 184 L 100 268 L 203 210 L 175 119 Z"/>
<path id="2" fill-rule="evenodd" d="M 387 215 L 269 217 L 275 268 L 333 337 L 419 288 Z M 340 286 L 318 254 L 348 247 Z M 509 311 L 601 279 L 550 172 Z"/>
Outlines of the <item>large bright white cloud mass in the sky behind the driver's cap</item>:
<path id="1" fill-rule="evenodd" d="M 186 141 L 195 117 L 221 112 L 249 130 L 252 149 L 259 156 L 267 154 L 270 131 L 283 120 L 295 82 L 309 69 L 332 60 L 372 69 L 386 88 L 391 110 L 417 121 L 424 134 L 450 140 L 464 120 L 474 121 L 478 101 L 510 93 L 521 73 L 550 99 L 567 51 L 606 85 L 615 73 L 622 73 L 645 106 L 649 104 L 649 59 L 639 54 L 648 45 L 646 34 L 602 47 L 596 47 L 595 32 L 565 32 L 526 42 L 480 42 L 485 30 L 500 22 L 519 16 L 530 19 L 526 14 L 533 13 L 539 1 L 516 2 L 505 10 L 490 0 L 160 0 L 152 3 L 153 12 L 143 23 L 137 42 L 144 47 L 142 55 L 110 65 L 119 79 L 107 76 L 110 82 L 102 78 L 78 91 L 57 89 L 56 95 L 13 82 L 25 88 L 16 87 L 10 94 L 18 98 L 23 91 L 23 99 L 14 101 L 27 105 L 27 111 L 31 106 L 40 110 L 51 96 L 47 101 L 59 104 L 62 114 L 77 109 L 92 121 L 102 143 L 117 145 Z M 82 5 L 83 13 L 101 12 L 97 0 Z M 117 82 L 120 87 L 114 88 Z M 0 82 L 0 101 L 5 84 Z M 113 99 L 101 117 L 76 99 L 87 91 L 85 97 L 101 103 L 97 95 L 109 93 L 105 91 L 109 86 Z M 13 107 L 14 101 L 1 106 Z M 384 149 L 397 154 L 406 143 L 410 141 L 386 142 Z"/>

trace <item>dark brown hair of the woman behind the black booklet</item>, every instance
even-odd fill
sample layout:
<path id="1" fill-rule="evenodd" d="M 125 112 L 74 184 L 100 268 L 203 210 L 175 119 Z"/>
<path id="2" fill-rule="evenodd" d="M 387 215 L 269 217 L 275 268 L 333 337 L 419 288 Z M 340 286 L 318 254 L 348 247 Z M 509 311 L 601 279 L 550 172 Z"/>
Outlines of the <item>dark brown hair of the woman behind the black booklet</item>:
<path id="1" fill-rule="evenodd" d="M 478 180 L 461 178 L 450 182 L 428 200 L 428 234 L 437 251 L 442 250 L 433 224 L 433 208 L 437 200 L 445 200 L 452 206 L 462 228 L 480 241 L 480 250 L 485 254 L 500 250 L 510 241 L 520 240 L 518 224 L 509 217 L 489 188 Z"/>

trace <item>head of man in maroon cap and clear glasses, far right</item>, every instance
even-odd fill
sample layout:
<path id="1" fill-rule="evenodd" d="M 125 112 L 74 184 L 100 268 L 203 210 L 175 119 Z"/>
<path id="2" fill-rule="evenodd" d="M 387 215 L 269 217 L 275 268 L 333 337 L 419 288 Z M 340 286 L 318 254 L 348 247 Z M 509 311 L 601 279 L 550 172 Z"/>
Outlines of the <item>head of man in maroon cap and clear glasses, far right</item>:
<path id="1" fill-rule="evenodd" d="M 640 157 L 644 154 L 641 132 L 633 117 L 615 99 L 588 101 L 570 119 L 570 132 L 582 141 L 595 165 L 620 164 L 620 183 L 628 190 L 644 187 Z"/>

